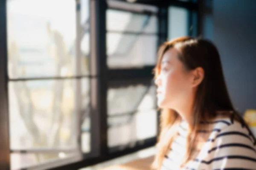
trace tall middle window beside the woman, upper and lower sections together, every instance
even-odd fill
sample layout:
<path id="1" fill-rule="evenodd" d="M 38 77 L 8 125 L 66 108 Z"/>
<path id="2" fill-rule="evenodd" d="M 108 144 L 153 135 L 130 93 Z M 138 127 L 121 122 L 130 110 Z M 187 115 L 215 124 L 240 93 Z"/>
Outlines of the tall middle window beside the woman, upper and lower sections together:
<path id="1" fill-rule="evenodd" d="M 156 139 L 156 89 L 151 80 L 162 35 L 158 8 L 154 6 L 108 1 L 106 21 L 111 77 L 107 97 L 108 148 L 112 153 Z"/>

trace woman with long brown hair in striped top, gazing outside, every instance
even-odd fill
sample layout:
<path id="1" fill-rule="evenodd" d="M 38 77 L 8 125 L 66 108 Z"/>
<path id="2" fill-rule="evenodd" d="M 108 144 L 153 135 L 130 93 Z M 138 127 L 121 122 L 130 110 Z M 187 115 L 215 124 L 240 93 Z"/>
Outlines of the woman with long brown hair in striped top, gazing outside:
<path id="1" fill-rule="evenodd" d="M 157 170 L 256 169 L 255 137 L 232 105 L 211 42 L 165 42 L 154 71 L 161 109 Z"/>

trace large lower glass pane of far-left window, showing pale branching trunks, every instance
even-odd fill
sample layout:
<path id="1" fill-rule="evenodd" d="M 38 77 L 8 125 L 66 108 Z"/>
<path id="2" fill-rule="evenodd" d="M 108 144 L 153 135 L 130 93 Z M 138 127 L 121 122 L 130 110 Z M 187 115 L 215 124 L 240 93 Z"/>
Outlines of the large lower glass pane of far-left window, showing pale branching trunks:
<path id="1" fill-rule="evenodd" d="M 88 79 L 9 82 L 11 149 L 77 148 L 78 100 L 86 110 Z"/>

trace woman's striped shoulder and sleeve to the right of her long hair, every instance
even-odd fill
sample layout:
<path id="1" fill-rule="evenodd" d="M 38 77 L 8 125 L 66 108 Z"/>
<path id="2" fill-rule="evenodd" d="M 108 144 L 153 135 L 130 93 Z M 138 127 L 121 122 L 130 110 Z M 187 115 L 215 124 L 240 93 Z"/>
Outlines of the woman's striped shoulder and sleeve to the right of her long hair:
<path id="1" fill-rule="evenodd" d="M 236 115 L 235 115 L 236 116 Z M 211 164 L 211 169 L 244 168 L 256 166 L 256 147 L 253 134 L 243 121 L 234 117 L 216 117 L 213 129 L 205 144 L 206 156 L 202 162 Z"/>

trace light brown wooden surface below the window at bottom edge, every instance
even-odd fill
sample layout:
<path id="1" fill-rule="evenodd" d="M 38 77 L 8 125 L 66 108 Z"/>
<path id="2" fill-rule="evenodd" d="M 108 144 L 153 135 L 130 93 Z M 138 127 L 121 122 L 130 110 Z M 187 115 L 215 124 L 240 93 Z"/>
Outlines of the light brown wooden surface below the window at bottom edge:
<path id="1" fill-rule="evenodd" d="M 152 170 L 151 164 L 153 160 L 154 160 L 154 156 L 151 156 L 145 159 L 138 159 L 136 161 L 131 161 L 126 164 L 106 167 L 101 170 Z"/>

